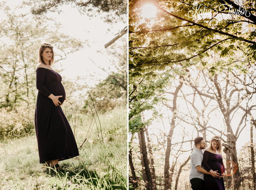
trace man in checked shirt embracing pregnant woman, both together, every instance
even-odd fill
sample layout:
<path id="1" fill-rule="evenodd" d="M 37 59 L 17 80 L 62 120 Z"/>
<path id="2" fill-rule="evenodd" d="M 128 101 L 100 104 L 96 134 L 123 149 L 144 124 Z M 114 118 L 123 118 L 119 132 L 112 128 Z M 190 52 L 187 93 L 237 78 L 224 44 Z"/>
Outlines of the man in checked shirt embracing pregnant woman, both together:
<path id="1" fill-rule="evenodd" d="M 193 190 L 225 190 L 223 176 L 225 167 L 221 152 L 221 139 L 214 136 L 210 147 L 205 148 L 203 137 L 194 140 L 195 147 L 190 156 L 189 180 Z M 203 149 L 205 149 L 203 151 Z"/>

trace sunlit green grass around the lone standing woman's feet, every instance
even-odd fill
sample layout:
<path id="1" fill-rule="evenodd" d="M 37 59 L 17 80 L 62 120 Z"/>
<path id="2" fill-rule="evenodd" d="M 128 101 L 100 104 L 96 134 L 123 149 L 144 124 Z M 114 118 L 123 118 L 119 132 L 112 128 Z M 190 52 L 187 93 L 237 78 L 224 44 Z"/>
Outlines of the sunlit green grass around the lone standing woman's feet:
<path id="1" fill-rule="evenodd" d="M 97 136 L 96 125 L 91 125 L 92 132 L 80 155 L 60 161 L 64 169 L 60 173 L 49 172 L 45 164 L 39 164 L 35 134 L 2 141 L 0 189 L 127 189 L 127 109 L 118 107 L 98 116 L 104 143 Z M 88 136 L 92 116 L 76 117 L 80 146 Z M 70 124 L 72 127 L 71 120 Z"/>

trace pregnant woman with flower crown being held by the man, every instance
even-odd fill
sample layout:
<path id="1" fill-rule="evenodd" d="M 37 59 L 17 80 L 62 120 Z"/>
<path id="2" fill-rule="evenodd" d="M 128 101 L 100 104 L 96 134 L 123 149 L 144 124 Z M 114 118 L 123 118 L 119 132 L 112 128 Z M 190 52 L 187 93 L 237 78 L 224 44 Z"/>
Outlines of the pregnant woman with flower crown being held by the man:
<path id="1" fill-rule="evenodd" d="M 214 136 L 211 140 L 210 147 L 205 148 L 202 166 L 208 171 L 222 174 L 220 177 L 212 177 L 204 174 L 204 184 L 207 190 L 225 190 L 223 176 L 225 176 L 225 167 L 223 164 L 221 151 L 221 139 L 219 136 Z"/>

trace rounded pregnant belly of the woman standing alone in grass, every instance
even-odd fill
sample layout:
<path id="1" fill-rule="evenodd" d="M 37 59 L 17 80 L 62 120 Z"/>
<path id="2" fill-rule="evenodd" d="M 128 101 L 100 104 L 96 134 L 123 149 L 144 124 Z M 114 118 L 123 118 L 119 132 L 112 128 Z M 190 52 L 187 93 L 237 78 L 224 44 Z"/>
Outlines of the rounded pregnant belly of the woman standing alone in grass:
<path id="1" fill-rule="evenodd" d="M 54 95 L 54 96 L 62 96 L 59 97 L 59 101 L 61 103 L 64 102 L 66 97 L 65 89 L 60 81 L 51 82 L 46 85 L 46 88 Z"/>

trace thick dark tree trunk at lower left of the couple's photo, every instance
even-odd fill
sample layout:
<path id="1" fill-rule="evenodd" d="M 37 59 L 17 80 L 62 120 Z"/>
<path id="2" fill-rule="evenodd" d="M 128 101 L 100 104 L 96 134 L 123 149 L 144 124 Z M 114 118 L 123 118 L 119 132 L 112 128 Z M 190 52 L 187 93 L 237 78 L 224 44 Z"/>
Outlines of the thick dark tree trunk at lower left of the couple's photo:
<path id="1" fill-rule="evenodd" d="M 140 131 L 141 135 L 141 144 L 142 144 L 142 154 L 143 154 L 143 161 L 145 165 L 145 172 L 148 180 L 148 189 L 149 190 L 156 190 L 156 187 L 152 181 L 151 172 L 148 164 L 148 154 L 147 154 L 147 147 L 145 142 L 145 135 L 144 135 L 144 129 L 141 129 Z"/>

